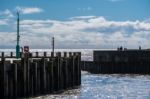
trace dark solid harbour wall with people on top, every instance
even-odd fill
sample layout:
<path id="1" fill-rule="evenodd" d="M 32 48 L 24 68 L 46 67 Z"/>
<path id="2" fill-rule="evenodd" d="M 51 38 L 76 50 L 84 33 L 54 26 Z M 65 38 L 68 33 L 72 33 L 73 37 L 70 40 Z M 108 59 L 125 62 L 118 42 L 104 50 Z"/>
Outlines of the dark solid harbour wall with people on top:
<path id="1" fill-rule="evenodd" d="M 101 74 L 150 74 L 150 50 L 94 51 L 94 61 L 82 61 L 82 70 Z"/>

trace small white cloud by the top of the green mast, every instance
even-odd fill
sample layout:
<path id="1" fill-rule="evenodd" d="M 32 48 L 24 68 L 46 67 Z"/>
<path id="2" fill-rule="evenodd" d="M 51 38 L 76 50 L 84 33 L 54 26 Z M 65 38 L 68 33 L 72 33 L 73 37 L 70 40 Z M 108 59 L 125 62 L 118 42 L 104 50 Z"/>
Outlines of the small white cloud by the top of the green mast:
<path id="1" fill-rule="evenodd" d="M 40 13 L 43 12 L 43 9 L 38 7 L 16 7 L 17 11 L 21 12 L 22 14 L 33 14 L 33 13 Z"/>

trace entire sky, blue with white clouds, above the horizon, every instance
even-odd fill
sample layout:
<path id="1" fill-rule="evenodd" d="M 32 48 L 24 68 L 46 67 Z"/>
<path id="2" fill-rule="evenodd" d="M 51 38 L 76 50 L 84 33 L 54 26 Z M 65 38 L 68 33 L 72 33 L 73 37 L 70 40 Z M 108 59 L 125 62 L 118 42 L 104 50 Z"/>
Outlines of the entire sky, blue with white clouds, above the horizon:
<path id="1" fill-rule="evenodd" d="M 0 48 L 150 48 L 150 0 L 0 0 Z"/>

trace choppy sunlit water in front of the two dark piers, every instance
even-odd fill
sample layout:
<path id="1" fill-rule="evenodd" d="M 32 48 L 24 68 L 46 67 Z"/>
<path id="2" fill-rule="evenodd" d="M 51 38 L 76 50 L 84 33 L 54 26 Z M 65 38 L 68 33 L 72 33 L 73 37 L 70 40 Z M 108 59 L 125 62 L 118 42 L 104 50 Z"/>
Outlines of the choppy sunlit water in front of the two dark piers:
<path id="1" fill-rule="evenodd" d="M 82 85 L 38 99 L 150 99 L 149 75 L 102 75 L 82 72 Z M 35 98 L 34 98 L 35 99 Z"/>

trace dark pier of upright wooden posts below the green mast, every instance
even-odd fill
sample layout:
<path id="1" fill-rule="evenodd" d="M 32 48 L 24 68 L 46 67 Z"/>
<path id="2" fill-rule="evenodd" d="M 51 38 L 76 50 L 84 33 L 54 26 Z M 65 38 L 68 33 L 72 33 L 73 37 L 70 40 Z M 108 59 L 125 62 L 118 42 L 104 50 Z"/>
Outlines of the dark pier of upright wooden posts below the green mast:
<path id="1" fill-rule="evenodd" d="M 26 53 L 19 60 L 13 53 L 5 56 L 1 53 L 0 61 L 0 97 L 14 99 L 38 96 L 74 88 L 81 84 L 81 53 L 58 52 L 54 56 L 39 53 Z"/>

